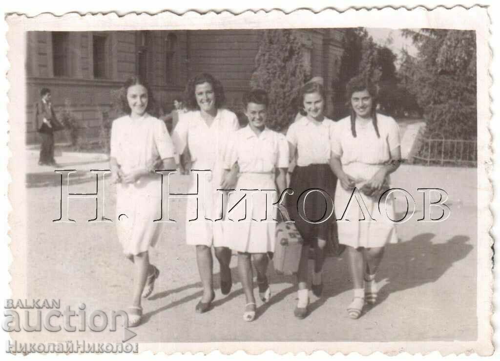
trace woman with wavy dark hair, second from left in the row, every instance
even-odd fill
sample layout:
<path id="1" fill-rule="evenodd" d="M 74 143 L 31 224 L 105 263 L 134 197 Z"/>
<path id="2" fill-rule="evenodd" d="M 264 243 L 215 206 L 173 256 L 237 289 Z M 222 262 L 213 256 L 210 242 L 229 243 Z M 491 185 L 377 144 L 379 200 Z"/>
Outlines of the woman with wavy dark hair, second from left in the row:
<path id="1" fill-rule="evenodd" d="M 172 139 L 180 156 L 181 173 L 189 174 L 191 183 L 189 193 L 198 193 L 203 197 L 205 218 L 213 222 L 189 222 L 198 213 L 196 202 L 187 202 L 186 207 L 186 243 L 196 247 L 196 262 L 203 287 L 203 295 L 196 305 L 197 313 L 210 309 L 215 298 L 213 291 L 213 258 L 211 247 L 215 249 L 215 258 L 220 265 L 220 291 L 229 294 L 232 287 L 231 240 L 223 234 L 221 222 L 214 222 L 225 213 L 221 206 L 219 189 L 229 189 L 236 183 L 237 167 L 223 176 L 223 161 L 227 141 L 239 128 L 236 115 L 223 108 L 225 96 L 222 84 L 212 75 L 203 73 L 189 80 L 186 86 L 186 106 L 190 111 L 179 113 L 179 121 L 172 132 Z M 196 175 L 191 169 L 210 170 L 208 174 Z"/>

